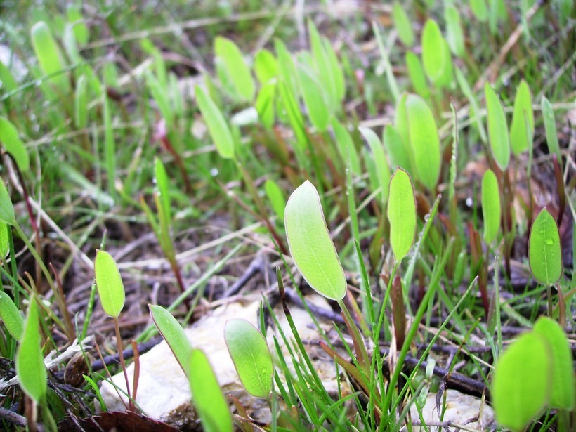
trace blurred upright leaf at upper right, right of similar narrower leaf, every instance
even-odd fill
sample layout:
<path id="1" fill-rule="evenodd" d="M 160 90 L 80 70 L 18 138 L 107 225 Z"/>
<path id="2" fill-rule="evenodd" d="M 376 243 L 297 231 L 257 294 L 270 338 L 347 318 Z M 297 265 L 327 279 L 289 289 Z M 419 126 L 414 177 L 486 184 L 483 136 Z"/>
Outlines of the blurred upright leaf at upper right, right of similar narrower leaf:
<path id="1" fill-rule="evenodd" d="M 528 120 L 529 131 L 527 131 L 526 121 Z M 530 135 L 528 135 L 530 132 Z M 528 146 L 532 146 L 534 136 L 534 112 L 532 112 L 532 96 L 526 81 L 522 80 L 516 89 L 514 99 L 514 112 L 510 125 L 510 145 L 514 155 L 519 155 Z"/>

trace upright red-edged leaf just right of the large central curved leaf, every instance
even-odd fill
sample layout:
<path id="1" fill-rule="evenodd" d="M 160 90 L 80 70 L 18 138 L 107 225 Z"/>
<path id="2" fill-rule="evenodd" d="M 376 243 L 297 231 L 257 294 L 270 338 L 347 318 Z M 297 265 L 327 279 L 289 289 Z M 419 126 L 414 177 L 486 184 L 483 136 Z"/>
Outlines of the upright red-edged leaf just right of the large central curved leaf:
<path id="1" fill-rule="evenodd" d="M 400 263 L 410 251 L 416 233 L 414 187 L 410 175 L 402 168 L 396 169 L 390 180 L 387 216 L 390 221 L 390 244 L 396 262 Z"/>

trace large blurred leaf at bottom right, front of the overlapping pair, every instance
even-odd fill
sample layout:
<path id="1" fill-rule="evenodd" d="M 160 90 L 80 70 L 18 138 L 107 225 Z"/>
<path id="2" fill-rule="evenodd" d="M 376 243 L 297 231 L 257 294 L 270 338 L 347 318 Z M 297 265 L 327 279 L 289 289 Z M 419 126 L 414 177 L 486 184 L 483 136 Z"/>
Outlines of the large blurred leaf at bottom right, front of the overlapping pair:
<path id="1" fill-rule="evenodd" d="M 549 397 L 551 362 L 546 341 L 534 332 L 514 341 L 498 358 L 492 379 L 492 407 L 500 426 L 522 431 Z"/>

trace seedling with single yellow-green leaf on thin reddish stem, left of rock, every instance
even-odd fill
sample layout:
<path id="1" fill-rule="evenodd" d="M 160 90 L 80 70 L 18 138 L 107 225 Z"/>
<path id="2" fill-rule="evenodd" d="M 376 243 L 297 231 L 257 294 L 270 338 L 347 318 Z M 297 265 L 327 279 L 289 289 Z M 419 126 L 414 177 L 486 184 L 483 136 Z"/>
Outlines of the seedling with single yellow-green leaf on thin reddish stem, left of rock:
<path id="1" fill-rule="evenodd" d="M 126 372 L 124 355 L 122 354 L 122 336 L 120 336 L 120 327 L 118 324 L 118 317 L 120 312 L 122 312 L 122 308 L 124 308 L 124 301 L 126 300 L 124 284 L 122 283 L 122 277 L 120 276 L 120 271 L 118 270 L 116 261 L 114 261 L 112 255 L 106 251 L 99 249 L 96 251 L 94 273 L 96 275 L 96 287 L 98 287 L 98 295 L 100 296 L 102 308 L 108 316 L 114 318 L 118 355 L 120 358 L 120 365 L 122 366 L 122 372 L 124 372 L 124 379 L 126 381 L 129 410 L 133 411 L 134 401 L 130 396 L 130 384 Z"/>

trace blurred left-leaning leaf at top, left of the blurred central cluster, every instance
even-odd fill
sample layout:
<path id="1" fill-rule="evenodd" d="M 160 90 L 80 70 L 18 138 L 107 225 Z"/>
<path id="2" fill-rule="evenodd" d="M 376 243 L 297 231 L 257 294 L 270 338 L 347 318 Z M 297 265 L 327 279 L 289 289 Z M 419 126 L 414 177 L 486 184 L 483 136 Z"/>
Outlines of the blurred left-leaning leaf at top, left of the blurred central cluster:
<path id="1" fill-rule="evenodd" d="M 240 49 L 230 39 L 217 36 L 214 40 L 214 53 L 223 62 L 236 92 L 245 100 L 254 98 L 254 80 Z"/>

